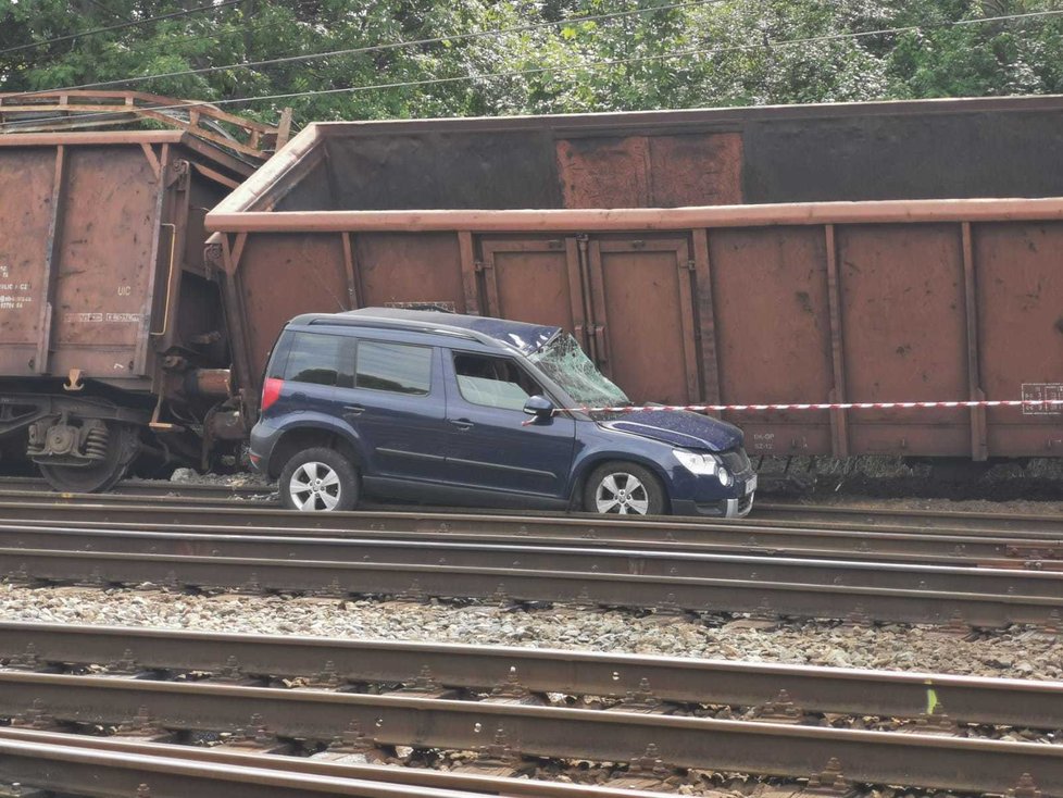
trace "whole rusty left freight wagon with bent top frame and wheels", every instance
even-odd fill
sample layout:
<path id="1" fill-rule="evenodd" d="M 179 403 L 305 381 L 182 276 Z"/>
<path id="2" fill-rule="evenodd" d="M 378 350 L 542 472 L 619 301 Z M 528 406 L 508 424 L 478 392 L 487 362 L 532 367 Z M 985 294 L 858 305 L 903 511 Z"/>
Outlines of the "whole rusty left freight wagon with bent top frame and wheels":
<path id="1" fill-rule="evenodd" d="M 203 217 L 276 130 L 175 104 L 0 96 L 0 451 L 61 489 L 243 435 Z"/>

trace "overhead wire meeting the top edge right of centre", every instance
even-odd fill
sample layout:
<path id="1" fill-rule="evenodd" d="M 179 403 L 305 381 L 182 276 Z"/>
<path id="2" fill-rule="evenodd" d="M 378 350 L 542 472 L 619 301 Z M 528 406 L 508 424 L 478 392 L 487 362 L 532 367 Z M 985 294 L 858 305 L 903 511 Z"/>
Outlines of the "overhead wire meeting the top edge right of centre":
<path id="1" fill-rule="evenodd" d="M 185 77 L 188 75 L 205 75 L 214 72 L 225 72 L 227 70 L 251 70 L 258 66 L 272 66 L 274 64 L 288 64 L 300 61 L 316 61 L 326 58 L 338 58 L 341 55 L 364 55 L 373 52 L 385 52 L 387 50 L 399 50 L 408 47 L 426 47 L 430 45 L 441 45 L 443 42 L 466 41 L 484 38 L 488 36 L 505 36 L 508 34 L 521 34 L 529 30 L 538 30 L 548 27 L 560 27 L 563 25 L 577 25 L 586 22 L 602 22 L 625 16 L 649 14 L 660 11 L 673 11 L 676 9 L 687 9 L 697 5 L 712 5 L 724 2 L 725 0 L 687 0 L 687 2 L 671 3 L 668 5 L 651 5 L 641 9 L 628 9 L 627 11 L 613 11 L 605 14 L 593 14 L 590 16 L 574 16 L 565 20 L 552 22 L 539 22 L 528 25 L 517 25 L 508 28 L 490 28 L 487 30 L 473 30 L 467 34 L 449 34 L 446 36 L 435 36 L 425 39 L 408 39 L 403 41 L 391 41 L 383 45 L 368 45 L 365 47 L 353 47 L 343 50 L 329 50 L 327 52 L 305 53 L 302 55 L 286 55 L 282 58 L 264 59 L 262 61 L 245 61 L 236 64 L 225 64 L 221 66 L 202 66 L 195 70 L 180 70 L 177 72 L 163 72 L 154 75 L 138 75 L 136 77 L 125 77 L 117 80 L 101 80 L 97 83 L 85 83 L 76 86 L 64 86 L 55 89 L 41 89 L 39 91 L 22 92 L 22 97 L 33 97 L 39 93 L 54 93 L 57 91 L 75 91 L 79 89 L 99 89 L 111 86 L 128 86 L 130 84 L 143 83 L 172 77 Z"/>

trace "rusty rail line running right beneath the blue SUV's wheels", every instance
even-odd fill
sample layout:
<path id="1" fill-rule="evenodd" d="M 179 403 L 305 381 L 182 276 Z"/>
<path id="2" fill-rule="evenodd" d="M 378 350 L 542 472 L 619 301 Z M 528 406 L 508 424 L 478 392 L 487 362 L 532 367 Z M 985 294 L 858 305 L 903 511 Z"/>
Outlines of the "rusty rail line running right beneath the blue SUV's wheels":
<path id="1" fill-rule="evenodd" d="M 0 492 L 0 513 L 8 522 L 159 528 L 161 524 L 182 528 L 217 531 L 262 529 L 288 534 L 327 533 L 425 533 L 447 537 L 459 535 L 505 535 L 541 541 L 550 539 L 610 539 L 647 545 L 683 544 L 693 546 L 740 547 L 748 551 L 811 552 L 849 551 L 937 557 L 960 562 L 1012 559 L 1038 561 L 1052 568 L 1063 561 L 1063 521 L 1042 519 L 1028 528 L 1009 531 L 979 524 L 955 528 L 928 529 L 923 526 L 845 524 L 795 525 L 781 521 L 747 520 L 712 522 L 690 519 L 629 521 L 597 515 L 458 513 L 366 510 L 352 513 L 292 513 L 261 503 L 234 504 L 224 500 L 157 499 L 145 503 L 127 496 L 62 496 L 28 492 Z"/>

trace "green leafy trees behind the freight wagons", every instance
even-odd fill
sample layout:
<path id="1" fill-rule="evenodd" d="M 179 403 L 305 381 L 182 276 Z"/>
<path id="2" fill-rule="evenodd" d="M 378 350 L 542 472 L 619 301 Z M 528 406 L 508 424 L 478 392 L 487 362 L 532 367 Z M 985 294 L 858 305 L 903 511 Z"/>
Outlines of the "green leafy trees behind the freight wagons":
<path id="1" fill-rule="evenodd" d="M 0 90 L 279 96 L 228 110 L 299 122 L 1063 90 L 1063 15 L 979 22 L 1052 0 L 205 4 L 0 0 Z"/>

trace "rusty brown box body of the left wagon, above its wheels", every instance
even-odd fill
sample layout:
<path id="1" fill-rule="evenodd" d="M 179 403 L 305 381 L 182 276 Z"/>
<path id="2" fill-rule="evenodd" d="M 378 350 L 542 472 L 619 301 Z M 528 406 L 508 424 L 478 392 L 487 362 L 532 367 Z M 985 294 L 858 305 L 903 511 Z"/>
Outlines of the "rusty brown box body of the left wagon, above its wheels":
<path id="1" fill-rule="evenodd" d="M 11 233 L 0 237 L 0 375 L 79 369 L 147 390 L 158 351 L 217 328 L 217 303 L 207 317 L 201 291 L 202 242 L 188 236 L 202 235 L 203 205 L 251 169 L 191 141 L 158 132 L 0 137 L 0 222 Z M 205 315 L 182 314 L 183 288 Z"/>

